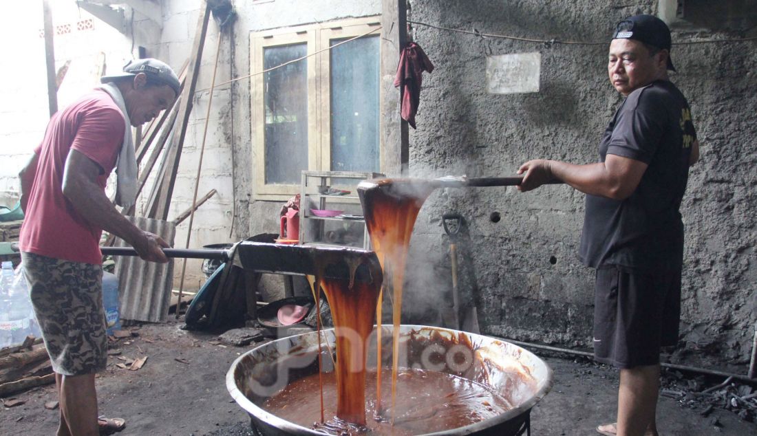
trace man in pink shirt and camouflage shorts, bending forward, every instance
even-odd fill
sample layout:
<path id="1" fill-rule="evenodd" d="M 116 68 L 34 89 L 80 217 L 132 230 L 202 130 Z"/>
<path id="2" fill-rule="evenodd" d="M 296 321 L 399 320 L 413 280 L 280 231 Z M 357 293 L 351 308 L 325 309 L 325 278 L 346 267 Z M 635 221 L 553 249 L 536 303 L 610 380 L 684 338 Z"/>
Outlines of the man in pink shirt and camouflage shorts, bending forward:
<path id="1" fill-rule="evenodd" d="M 102 231 L 123 238 L 144 260 L 167 262 L 162 248 L 169 246 L 126 220 L 104 188 L 118 167 L 117 201 L 133 203 L 131 126 L 170 107 L 179 94 L 179 79 L 163 62 L 142 59 L 102 82 L 101 88 L 51 117 L 42 143 L 19 174 L 26 216 L 19 246 L 55 370 L 59 436 L 97 435 L 124 425 L 123 419 L 98 419 L 97 412 L 95 372 L 107 362 Z"/>

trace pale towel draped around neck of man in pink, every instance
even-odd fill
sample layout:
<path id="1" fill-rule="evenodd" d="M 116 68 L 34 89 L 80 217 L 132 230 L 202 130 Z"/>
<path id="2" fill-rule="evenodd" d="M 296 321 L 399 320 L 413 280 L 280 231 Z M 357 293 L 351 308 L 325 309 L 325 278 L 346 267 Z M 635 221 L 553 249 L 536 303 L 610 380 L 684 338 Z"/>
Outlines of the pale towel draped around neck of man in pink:
<path id="1" fill-rule="evenodd" d="M 136 201 L 137 196 L 137 158 L 134 151 L 134 139 L 132 139 L 132 123 L 126 112 L 126 103 L 123 101 L 120 89 L 114 83 L 104 83 L 100 86 L 104 92 L 111 95 L 113 101 L 121 110 L 123 120 L 126 121 L 126 129 L 123 131 L 123 144 L 116 161 L 116 204 L 128 209 Z"/>

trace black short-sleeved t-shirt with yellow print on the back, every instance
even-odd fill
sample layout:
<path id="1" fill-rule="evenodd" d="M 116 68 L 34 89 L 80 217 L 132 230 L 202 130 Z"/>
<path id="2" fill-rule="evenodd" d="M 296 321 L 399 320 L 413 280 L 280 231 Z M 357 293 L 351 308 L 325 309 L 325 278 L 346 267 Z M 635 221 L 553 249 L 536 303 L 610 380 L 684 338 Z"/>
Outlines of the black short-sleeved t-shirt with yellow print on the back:
<path id="1" fill-rule="evenodd" d="M 684 223 L 681 200 L 696 140 L 691 109 L 681 91 L 659 80 L 628 95 L 600 143 L 607 154 L 640 160 L 646 168 L 638 187 L 622 201 L 586 196 L 579 256 L 594 268 L 668 270 L 681 267 Z"/>

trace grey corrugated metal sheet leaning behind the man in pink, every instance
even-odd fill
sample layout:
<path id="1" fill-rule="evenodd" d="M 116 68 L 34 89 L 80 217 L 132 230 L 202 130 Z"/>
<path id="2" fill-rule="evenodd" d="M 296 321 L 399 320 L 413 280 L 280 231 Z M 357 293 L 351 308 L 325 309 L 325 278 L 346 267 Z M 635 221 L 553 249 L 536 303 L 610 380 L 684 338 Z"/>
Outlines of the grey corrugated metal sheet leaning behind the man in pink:
<path id="1" fill-rule="evenodd" d="M 139 216 L 127 218 L 140 229 L 152 232 L 173 245 L 176 235 L 173 223 Z M 129 246 L 120 238 L 116 238 L 115 245 Z M 173 287 L 173 260 L 154 263 L 136 256 L 120 256 L 115 260 L 121 319 L 164 322 L 168 318 Z"/>

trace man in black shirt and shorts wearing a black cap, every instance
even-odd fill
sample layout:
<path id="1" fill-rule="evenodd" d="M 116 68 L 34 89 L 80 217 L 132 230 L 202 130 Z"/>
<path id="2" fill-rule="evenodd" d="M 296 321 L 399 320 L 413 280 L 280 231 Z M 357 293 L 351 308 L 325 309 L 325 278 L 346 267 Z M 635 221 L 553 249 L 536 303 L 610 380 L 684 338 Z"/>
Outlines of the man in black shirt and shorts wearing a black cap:
<path id="1" fill-rule="evenodd" d="M 668 81 L 670 48 L 657 17 L 618 23 L 608 73 L 626 98 L 604 132 L 600 162 L 530 160 L 518 171 L 522 192 L 558 179 L 587 195 L 579 256 L 597 269 L 594 355 L 620 368 L 618 421 L 600 434 L 657 434 L 659 350 L 678 341 L 679 207 L 699 143 L 689 104 Z"/>

